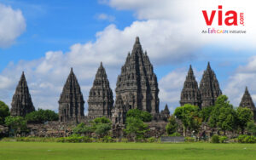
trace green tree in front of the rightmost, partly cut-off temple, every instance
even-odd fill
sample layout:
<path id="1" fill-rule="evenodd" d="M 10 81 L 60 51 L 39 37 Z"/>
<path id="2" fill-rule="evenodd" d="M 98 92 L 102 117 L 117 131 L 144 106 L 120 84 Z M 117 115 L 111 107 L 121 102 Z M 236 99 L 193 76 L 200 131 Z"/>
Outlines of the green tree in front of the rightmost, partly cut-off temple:
<path id="1" fill-rule="evenodd" d="M 253 120 L 253 112 L 249 108 L 238 107 L 236 109 L 237 124 L 243 134 L 244 129 L 247 127 L 247 123 Z"/>

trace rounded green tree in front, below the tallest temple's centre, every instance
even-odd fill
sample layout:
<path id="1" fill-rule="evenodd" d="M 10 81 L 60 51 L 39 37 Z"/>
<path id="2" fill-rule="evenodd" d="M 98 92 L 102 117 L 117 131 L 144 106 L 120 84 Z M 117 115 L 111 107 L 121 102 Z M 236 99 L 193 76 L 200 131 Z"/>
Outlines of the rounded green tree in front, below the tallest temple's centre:
<path id="1" fill-rule="evenodd" d="M 127 117 L 125 123 L 124 131 L 133 141 L 143 138 L 143 135 L 148 131 L 148 125 L 144 124 L 140 118 Z"/>

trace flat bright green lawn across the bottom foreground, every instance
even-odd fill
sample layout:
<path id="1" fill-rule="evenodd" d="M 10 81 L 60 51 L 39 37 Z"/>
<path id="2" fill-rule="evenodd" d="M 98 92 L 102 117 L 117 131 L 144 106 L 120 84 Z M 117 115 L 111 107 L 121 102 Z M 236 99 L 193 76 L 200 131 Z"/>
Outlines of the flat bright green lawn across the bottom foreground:
<path id="1" fill-rule="evenodd" d="M 256 159 L 256 144 L 0 142 L 0 159 Z"/>

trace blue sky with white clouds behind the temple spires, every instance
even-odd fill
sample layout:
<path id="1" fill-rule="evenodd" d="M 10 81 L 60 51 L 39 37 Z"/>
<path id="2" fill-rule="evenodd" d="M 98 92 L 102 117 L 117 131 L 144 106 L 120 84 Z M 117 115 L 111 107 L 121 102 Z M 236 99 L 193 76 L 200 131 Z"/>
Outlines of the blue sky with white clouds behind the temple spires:
<path id="1" fill-rule="evenodd" d="M 15 38 L 10 36 L 9 45 L 0 47 L 0 89 L 3 91 L 0 99 L 10 104 L 21 71 L 26 71 L 36 108 L 57 111 L 61 88 L 73 66 L 87 100 L 100 61 L 115 89 L 120 67 L 135 37 L 139 36 L 162 89 L 160 108 L 167 103 L 173 111 L 178 106 L 189 65 L 195 69 L 199 83 L 207 61 L 211 62 L 224 94 L 230 96 L 235 106 L 246 85 L 256 100 L 256 84 L 251 83 L 256 77 L 252 40 L 256 34 L 252 29 L 255 24 L 249 23 L 254 12 L 250 7 L 253 3 L 246 0 L 243 8 L 247 9 L 248 25 L 242 29 L 247 30 L 247 35 L 224 37 L 201 34 L 201 30 L 207 28 L 201 23 L 201 9 L 215 9 L 214 4 L 217 6 L 221 1 L 209 0 L 213 7 L 196 1 L 198 8 L 190 7 L 194 4 L 187 0 L 181 0 L 178 4 L 182 5 L 178 6 L 177 0 L 160 3 L 146 0 L 0 0 L 0 9 L 11 9 L 11 13 L 6 11 L 2 16 L 16 25 L 13 25 L 14 32 L 18 30 Z M 240 6 L 238 0 L 227 0 L 224 4 Z M 16 20 L 12 16 L 19 14 L 19 10 L 21 19 Z M 0 15 L 0 46 L 1 30 L 10 27 L 4 26 L 6 21 L 1 22 L 1 18 L 5 17 Z M 19 31 L 22 24 L 26 29 Z"/>

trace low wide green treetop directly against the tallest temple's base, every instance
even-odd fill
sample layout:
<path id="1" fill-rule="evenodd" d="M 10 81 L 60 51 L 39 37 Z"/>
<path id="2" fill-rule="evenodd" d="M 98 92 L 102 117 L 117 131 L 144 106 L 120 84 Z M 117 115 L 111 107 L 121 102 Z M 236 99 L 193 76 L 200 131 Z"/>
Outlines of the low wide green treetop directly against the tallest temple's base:
<path id="1" fill-rule="evenodd" d="M 152 115 L 148 111 L 141 111 L 138 109 L 129 110 L 126 117 L 137 117 L 143 122 L 150 122 L 152 120 Z"/>

